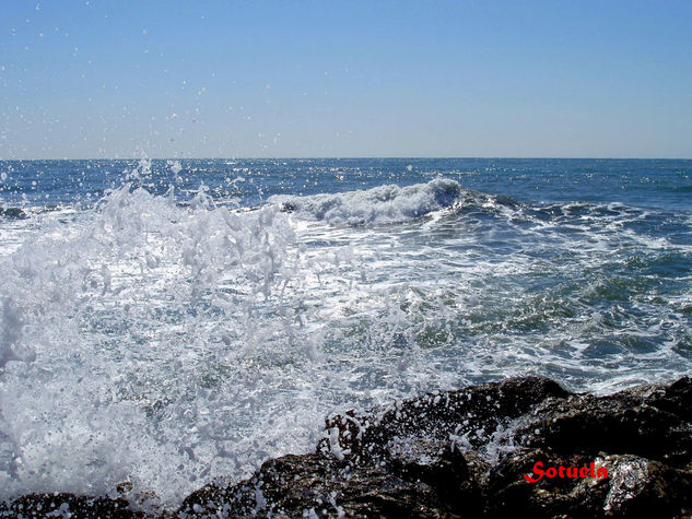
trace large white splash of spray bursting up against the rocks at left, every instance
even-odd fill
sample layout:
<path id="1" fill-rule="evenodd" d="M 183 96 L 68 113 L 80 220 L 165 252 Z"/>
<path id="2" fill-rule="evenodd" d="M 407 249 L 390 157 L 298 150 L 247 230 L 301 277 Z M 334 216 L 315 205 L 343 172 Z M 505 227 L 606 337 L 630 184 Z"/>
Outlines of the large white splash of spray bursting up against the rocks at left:
<path id="1" fill-rule="evenodd" d="M 286 220 L 271 205 L 218 208 L 201 190 L 180 208 L 127 184 L 42 220 L 0 258 L 0 499 L 122 481 L 166 499 L 212 464 L 243 473 L 294 448 L 296 435 L 248 423 L 289 428 L 253 403 L 281 369 L 256 381 L 255 366 L 306 353 L 278 293 L 292 269 Z M 237 443 L 216 437 L 226 430 Z"/>

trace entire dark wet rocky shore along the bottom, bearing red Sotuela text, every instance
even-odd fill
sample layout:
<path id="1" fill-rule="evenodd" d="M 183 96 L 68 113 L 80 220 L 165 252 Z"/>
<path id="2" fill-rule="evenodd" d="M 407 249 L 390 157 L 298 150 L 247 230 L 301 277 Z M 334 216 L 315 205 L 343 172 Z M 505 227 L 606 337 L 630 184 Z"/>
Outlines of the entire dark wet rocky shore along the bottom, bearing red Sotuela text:
<path id="1" fill-rule="evenodd" d="M 117 499 L 25 495 L 0 517 L 692 516 L 689 377 L 605 397 L 514 378 L 349 411 L 326 432 L 177 510 L 136 510 L 124 484 Z"/>

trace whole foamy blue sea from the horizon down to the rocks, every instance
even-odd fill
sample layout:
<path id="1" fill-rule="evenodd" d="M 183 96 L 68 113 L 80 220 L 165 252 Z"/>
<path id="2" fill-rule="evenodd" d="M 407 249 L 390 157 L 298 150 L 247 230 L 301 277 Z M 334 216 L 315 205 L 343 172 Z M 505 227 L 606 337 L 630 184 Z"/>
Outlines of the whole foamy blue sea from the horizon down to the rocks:
<path id="1" fill-rule="evenodd" d="M 692 161 L 0 161 L 0 498 L 164 506 L 325 417 L 692 367 Z"/>

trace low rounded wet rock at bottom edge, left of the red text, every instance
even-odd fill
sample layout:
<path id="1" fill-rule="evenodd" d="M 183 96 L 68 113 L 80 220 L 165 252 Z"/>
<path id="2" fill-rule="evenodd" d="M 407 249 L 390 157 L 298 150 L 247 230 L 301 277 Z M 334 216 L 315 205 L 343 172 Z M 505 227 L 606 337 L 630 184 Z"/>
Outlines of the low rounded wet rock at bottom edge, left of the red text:
<path id="1" fill-rule="evenodd" d="M 437 492 L 377 467 L 319 455 L 266 462 L 249 480 L 208 485 L 188 496 L 181 517 L 453 517 Z"/>

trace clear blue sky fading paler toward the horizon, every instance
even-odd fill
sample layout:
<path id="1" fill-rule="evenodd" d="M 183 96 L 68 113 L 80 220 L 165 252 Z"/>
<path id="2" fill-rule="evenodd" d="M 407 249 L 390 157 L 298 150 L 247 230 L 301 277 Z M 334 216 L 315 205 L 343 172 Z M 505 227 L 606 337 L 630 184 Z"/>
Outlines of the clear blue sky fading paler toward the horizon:
<path id="1" fill-rule="evenodd" d="M 692 157 L 692 2 L 2 0 L 0 160 Z"/>

